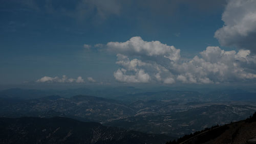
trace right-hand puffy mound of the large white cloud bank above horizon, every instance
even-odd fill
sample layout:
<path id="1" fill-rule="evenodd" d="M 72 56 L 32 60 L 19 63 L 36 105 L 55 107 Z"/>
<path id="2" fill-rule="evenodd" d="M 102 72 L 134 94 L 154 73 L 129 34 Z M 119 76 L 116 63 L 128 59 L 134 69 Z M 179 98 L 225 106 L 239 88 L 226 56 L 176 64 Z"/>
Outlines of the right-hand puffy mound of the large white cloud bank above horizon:
<path id="1" fill-rule="evenodd" d="M 247 50 L 224 51 L 220 47 L 208 46 L 188 62 L 175 64 L 177 80 L 183 83 L 218 83 L 256 78 L 250 71 L 255 58 Z M 254 60 L 254 61 L 253 61 Z M 173 69 L 173 70 L 174 70 Z M 247 70 L 246 70 L 247 69 Z"/>

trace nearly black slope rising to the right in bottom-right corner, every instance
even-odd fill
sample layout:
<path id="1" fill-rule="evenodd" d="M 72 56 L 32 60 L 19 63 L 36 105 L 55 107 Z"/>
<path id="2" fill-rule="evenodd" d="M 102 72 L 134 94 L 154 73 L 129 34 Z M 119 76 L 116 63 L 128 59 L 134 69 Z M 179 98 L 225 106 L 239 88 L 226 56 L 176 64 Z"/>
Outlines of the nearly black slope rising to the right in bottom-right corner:
<path id="1" fill-rule="evenodd" d="M 256 138 L 256 112 L 250 118 L 243 121 L 230 123 L 224 126 L 215 126 L 205 130 L 185 135 L 177 141 L 169 141 L 166 144 L 175 143 L 250 143 L 250 139 Z M 256 142 L 256 141 L 255 141 Z"/>

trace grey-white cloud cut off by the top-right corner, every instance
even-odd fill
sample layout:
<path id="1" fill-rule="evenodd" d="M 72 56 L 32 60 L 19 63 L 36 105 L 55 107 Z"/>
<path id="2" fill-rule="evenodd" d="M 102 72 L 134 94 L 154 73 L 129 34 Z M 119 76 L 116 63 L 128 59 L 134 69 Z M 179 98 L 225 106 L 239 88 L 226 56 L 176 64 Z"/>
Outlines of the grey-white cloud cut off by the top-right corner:
<path id="1" fill-rule="evenodd" d="M 229 0 L 222 14 L 224 26 L 215 37 L 224 46 L 237 46 L 256 52 L 256 1 Z"/>

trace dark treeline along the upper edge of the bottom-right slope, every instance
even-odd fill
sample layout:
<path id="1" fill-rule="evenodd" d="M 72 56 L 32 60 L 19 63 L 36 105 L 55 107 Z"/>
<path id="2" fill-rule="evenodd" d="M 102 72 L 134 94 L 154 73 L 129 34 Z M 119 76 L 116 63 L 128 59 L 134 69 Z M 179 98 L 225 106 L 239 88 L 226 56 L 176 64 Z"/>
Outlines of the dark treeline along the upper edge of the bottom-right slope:
<path id="1" fill-rule="evenodd" d="M 248 122 L 248 123 L 256 122 L 256 112 L 254 112 L 254 114 L 252 116 L 245 119 L 244 121 Z M 178 138 L 177 140 L 170 140 L 169 142 L 166 142 L 166 144 L 177 144 L 177 143 L 181 143 L 181 142 L 204 143 L 210 139 L 214 139 L 214 138 L 218 137 L 223 132 L 225 132 L 227 129 L 228 129 L 228 125 L 212 126 L 211 128 L 205 128 L 204 130 L 196 131 L 195 133 L 186 134 L 183 137 Z"/>

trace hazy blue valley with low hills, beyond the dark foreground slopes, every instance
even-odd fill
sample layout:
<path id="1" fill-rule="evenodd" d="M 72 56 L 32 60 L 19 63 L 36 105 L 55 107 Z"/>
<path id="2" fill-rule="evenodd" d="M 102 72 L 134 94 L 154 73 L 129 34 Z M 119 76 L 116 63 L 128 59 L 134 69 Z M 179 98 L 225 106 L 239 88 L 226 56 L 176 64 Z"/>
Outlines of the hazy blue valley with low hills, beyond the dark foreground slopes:
<path id="1" fill-rule="evenodd" d="M 70 98 L 51 95 L 36 99 L 2 97 L 0 116 L 62 116 L 103 126 L 180 137 L 214 125 L 240 121 L 256 111 L 256 102 L 247 101 L 247 97 L 243 102 L 237 102 L 233 101 L 231 94 L 223 93 L 217 96 L 225 95 L 229 100 L 215 101 L 210 95 L 207 97 L 200 92 L 173 90 L 132 96 L 124 94 L 116 99 L 89 95 Z M 124 101 L 129 97 L 137 100 Z"/>

